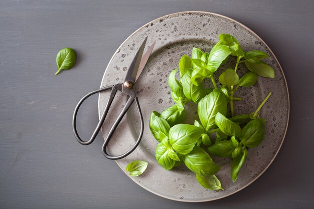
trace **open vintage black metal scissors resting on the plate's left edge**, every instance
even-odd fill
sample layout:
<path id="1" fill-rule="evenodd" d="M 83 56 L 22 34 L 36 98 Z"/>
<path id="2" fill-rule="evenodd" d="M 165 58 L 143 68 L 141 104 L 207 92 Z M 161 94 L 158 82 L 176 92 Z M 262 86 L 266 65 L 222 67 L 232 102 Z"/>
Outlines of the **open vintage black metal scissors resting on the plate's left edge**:
<path id="1" fill-rule="evenodd" d="M 80 101 L 79 103 L 76 105 L 75 107 L 75 110 L 74 110 L 74 114 L 73 114 L 73 132 L 74 132 L 74 136 L 75 138 L 77 139 L 77 141 L 83 145 L 89 145 L 91 144 L 94 139 L 96 138 L 101 126 L 103 125 L 104 121 L 105 121 L 105 118 L 107 116 L 107 113 L 109 111 L 109 108 L 111 106 L 111 103 L 116 95 L 116 92 L 119 90 L 120 92 L 122 92 L 122 94 L 126 94 L 128 96 L 128 100 L 127 102 L 125 103 L 124 105 L 124 108 L 122 109 L 121 113 L 119 114 L 118 118 L 116 119 L 116 121 L 114 122 L 114 124 L 112 125 L 109 133 L 108 133 L 108 136 L 107 138 L 105 139 L 103 145 L 102 145 L 102 152 L 103 154 L 105 155 L 106 158 L 108 159 L 113 159 L 113 160 L 116 160 L 116 159 L 121 159 L 121 158 L 124 158 L 126 157 L 127 155 L 129 155 L 132 151 L 134 151 L 134 149 L 137 147 L 137 145 L 139 144 L 141 138 L 142 138 L 142 135 L 143 135 L 143 131 L 144 131 L 144 122 L 143 122 L 143 116 L 142 116 L 142 113 L 140 111 L 140 106 L 139 106 L 139 103 L 138 103 L 138 99 L 135 95 L 135 91 L 134 91 L 134 84 L 136 83 L 138 77 L 140 76 L 141 72 L 143 71 L 146 63 L 147 63 L 147 60 L 150 56 L 150 53 L 155 45 L 155 42 L 152 43 L 152 45 L 148 48 L 147 52 L 143 55 L 143 51 L 144 51 L 144 48 L 145 48 L 145 44 L 146 44 L 146 41 L 147 41 L 147 37 L 145 38 L 144 42 L 142 43 L 142 45 L 140 46 L 140 48 L 138 49 L 130 67 L 128 68 L 127 72 L 126 72 L 126 76 L 125 76 L 125 79 L 124 79 L 124 82 L 123 83 L 119 83 L 119 84 L 116 84 L 116 85 L 111 85 L 111 86 L 107 86 L 107 87 L 104 87 L 104 88 L 101 88 L 101 89 L 98 89 L 98 90 L 95 90 L 95 91 L 92 91 L 90 93 L 88 93 L 86 96 L 84 96 Z M 96 94 L 98 92 L 101 92 L 101 91 L 106 91 L 106 90 L 109 90 L 111 89 L 111 93 L 110 93 L 110 96 L 109 96 L 109 100 L 106 104 L 106 107 L 104 109 L 104 112 L 102 113 L 102 116 L 91 136 L 91 138 L 88 140 L 88 141 L 83 141 L 78 133 L 77 133 L 77 130 L 76 130 L 76 116 L 77 116 L 77 112 L 78 112 L 78 109 L 80 108 L 81 104 L 84 102 L 85 99 L 87 99 L 88 97 L 90 97 L 91 95 L 93 94 Z M 121 155 L 110 155 L 107 153 L 106 151 L 106 147 L 107 147 L 107 144 L 108 142 L 110 141 L 114 131 L 116 130 L 116 128 L 118 127 L 120 121 L 122 120 L 123 116 L 125 115 L 125 113 L 127 112 L 127 110 L 130 108 L 131 104 L 133 103 L 133 101 L 135 100 L 136 102 L 136 106 L 137 106 L 137 110 L 138 110 L 138 114 L 139 114 L 139 117 L 140 117 L 140 133 L 139 133 L 139 136 L 135 142 L 135 144 L 132 146 L 132 148 L 130 150 L 128 150 L 127 152 L 125 152 L 124 154 L 121 154 Z"/>

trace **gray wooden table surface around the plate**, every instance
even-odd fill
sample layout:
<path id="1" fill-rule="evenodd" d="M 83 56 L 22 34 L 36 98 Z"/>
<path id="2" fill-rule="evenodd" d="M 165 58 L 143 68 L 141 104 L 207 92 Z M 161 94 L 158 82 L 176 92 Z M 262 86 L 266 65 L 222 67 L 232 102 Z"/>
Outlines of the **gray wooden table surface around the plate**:
<path id="1" fill-rule="evenodd" d="M 156 196 L 101 153 L 76 142 L 72 114 L 100 86 L 119 45 L 142 25 L 181 11 L 233 18 L 277 56 L 290 93 L 283 146 L 267 171 L 229 197 L 184 203 Z M 314 3 L 312 1 L 1 1 L 0 208 L 314 208 Z M 77 64 L 59 76 L 56 54 Z M 80 116 L 97 124 L 97 96 Z M 83 121 L 81 121 L 83 122 Z"/>

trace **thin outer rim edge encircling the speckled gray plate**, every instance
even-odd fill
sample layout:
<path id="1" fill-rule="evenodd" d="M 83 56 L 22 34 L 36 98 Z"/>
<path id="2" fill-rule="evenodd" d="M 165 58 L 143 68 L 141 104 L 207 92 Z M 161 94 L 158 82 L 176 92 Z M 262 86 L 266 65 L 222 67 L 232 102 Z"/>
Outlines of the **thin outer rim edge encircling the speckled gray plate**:
<path id="1" fill-rule="evenodd" d="M 216 200 L 216 199 L 221 199 L 221 198 L 224 198 L 224 197 L 227 197 L 227 196 L 230 196 L 244 188 L 246 188 L 248 185 L 250 185 L 251 183 L 253 183 L 256 179 L 258 179 L 266 170 L 267 168 L 270 166 L 270 164 L 274 161 L 274 159 L 276 158 L 281 146 L 282 146 L 282 143 L 284 141 L 284 138 L 285 138 L 285 135 L 286 135 L 286 132 L 287 132 L 287 129 L 288 129 L 288 124 L 289 124 L 289 117 L 290 117 L 290 98 L 289 98 L 289 91 L 288 91 L 288 85 L 287 85 L 287 81 L 285 79 L 285 76 L 284 76 L 284 73 L 283 73 L 283 70 L 281 68 L 281 65 L 280 63 L 278 62 L 275 54 L 271 51 L 271 49 L 268 47 L 268 45 L 256 34 L 254 33 L 251 29 L 249 29 L 248 27 L 246 27 L 245 25 L 239 23 L 238 21 L 235 21 L 231 18 L 228 18 L 226 16 L 223 16 L 223 15 L 219 15 L 219 14 L 216 14 L 216 13 L 210 13 L 210 12 L 201 12 L 201 11 L 186 11 L 186 12 L 179 12 L 179 13 L 173 13 L 173 14 L 170 14 L 170 15 L 166 15 L 166 16 L 163 16 L 163 17 L 160 17 L 160 18 L 157 18 L 153 21 L 150 21 L 149 23 L 146 23 L 145 25 L 143 25 L 142 27 L 140 27 L 139 29 L 137 29 L 134 33 L 132 33 L 119 47 L 118 49 L 116 50 L 116 52 L 113 54 L 113 56 L 111 57 L 107 67 L 106 67 L 106 70 L 103 74 L 103 78 L 102 78 L 102 81 L 101 81 L 101 84 L 100 84 L 100 88 L 104 85 L 104 78 L 105 78 L 105 75 L 106 75 L 106 72 L 108 70 L 108 67 L 110 66 L 111 62 L 112 62 L 112 59 L 117 55 L 117 53 L 120 51 L 121 47 L 124 45 L 125 42 L 127 42 L 131 37 L 133 37 L 138 31 L 140 31 L 141 29 L 143 29 L 144 27 L 146 27 L 146 25 L 148 24 L 151 24 L 155 21 L 158 21 L 160 19 L 165 19 L 165 18 L 169 18 L 171 16 L 176 16 L 176 15 L 180 15 L 180 14 L 191 14 L 191 13 L 195 13 L 195 14 L 204 14 L 204 15 L 212 15 L 212 16 L 217 16 L 217 17 L 221 17 L 221 18 L 224 18 L 224 19 L 227 19 L 229 21 L 232 21 L 232 22 L 235 22 L 237 24 L 239 24 L 241 27 L 243 27 L 244 29 L 246 29 L 247 31 L 249 31 L 250 33 L 254 34 L 269 50 L 270 53 L 272 53 L 272 55 L 274 56 L 274 59 L 276 61 L 276 63 L 278 64 L 279 66 L 279 69 L 282 73 L 282 78 L 284 80 L 284 84 L 285 84 L 285 87 L 286 87 L 286 92 L 287 92 L 287 101 L 288 101 L 288 109 L 287 109 L 287 123 L 286 123 L 286 127 L 285 127 L 285 130 L 284 130 L 284 134 L 282 136 L 282 139 L 281 139 L 281 143 L 276 151 L 276 153 L 274 154 L 273 158 L 270 160 L 270 162 L 268 163 L 268 165 L 265 167 L 264 170 L 262 170 L 259 175 L 257 175 L 254 179 L 252 179 L 250 182 L 248 182 L 246 185 L 244 185 L 243 187 L 239 188 L 238 190 L 232 192 L 232 193 L 229 193 L 229 194 L 226 194 L 225 196 L 221 196 L 221 197 L 217 197 L 217 198 L 214 198 L 214 199 L 211 199 L 211 200 L 195 200 L 195 201 L 191 201 L 191 200 L 179 200 L 179 199 L 175 199 L 175 198 L 171 198 L 169 196 L 166 196 L 166 195 L 163 195 L 163 194 L 160 194 L 160 193 L 157 193 L 155 191 L 151 191 L 149 190 L 148 188 L 145 188 L 144 186 L 142 186 L 141 184 L 139 184 L 138 182 L 134 181 L 132 178 L 132 180 L 137 183 L 139 186 L 141 186 L 142 188 L 146 189 L 147 191 L 151 192 L 151 193 L 154 193 L 158 196 L 161 196 L 161 197 L 164 197 L 164 198 L 167 198 L 167 199 L 172 199 L 172 200 L 176 200 L 176 201 L 183 201 L 183 202 L 206 202 L 206 201 L 213 201 L 213 200 Z M 98 116 L 99 116 L 99 119 L 100 119 L 100 116 L 101 116 L 101 112 L 100 112 L 100 109 L 101 109 L 101 95 L 99 94 L 99 97 L 98 97 Z M 102 135 L 103 135 L 103 132 L 102 132 Z M 103 135 L 103 137 L 105 138 L 105 136 Z M 119 162 L 117 160 L 115 160 L 115 162 L 117 163 L 117 165 L 122 169 L 122 171 L 128 176 L 127 172 L 124 170 L 124 168 L 119 164 Z"/>

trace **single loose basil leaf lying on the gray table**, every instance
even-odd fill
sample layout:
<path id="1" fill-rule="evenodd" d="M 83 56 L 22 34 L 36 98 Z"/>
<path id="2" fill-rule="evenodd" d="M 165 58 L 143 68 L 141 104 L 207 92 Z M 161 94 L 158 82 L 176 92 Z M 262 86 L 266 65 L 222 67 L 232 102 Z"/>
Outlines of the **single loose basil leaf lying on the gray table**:
<path id="1" fill-rule="evenodd" d="M 64 48 L 58 52 L 56 61 L 58 65 L 58 71 L 55 73 L 55 75 L 58 75 L 60 70 L 69 70 L 75 65 L 76 53 L 71 48 Z"/>

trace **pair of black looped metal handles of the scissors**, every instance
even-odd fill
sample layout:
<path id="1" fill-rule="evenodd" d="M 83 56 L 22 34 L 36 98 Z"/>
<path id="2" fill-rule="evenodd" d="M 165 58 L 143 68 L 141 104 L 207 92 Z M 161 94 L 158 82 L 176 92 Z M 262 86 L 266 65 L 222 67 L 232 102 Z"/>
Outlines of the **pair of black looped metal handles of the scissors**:
<path id="1" fill-rule="evenodd" d="M 95 91 L 92 91 L 90 93 L 88 93 L 87 95 L 85 95 L 80 101 L 79 103 L 76 105 L 75 107 L 75 110 L 74 110 L 74 114 L 73 114 L 73 132 L 74 132 L 74 136 L 75 138 L 77 139 L 77 141 L 80 143 L 80 144 L 83 144 L 83 145 L 89 145 L 91 144 L 94 139 L 96 138 L 98 132 L 100 131 L 100 128 L 101 126 L 103 125 L 104 121 L 105 121 L 105 118 L 107 116 L 107 113 L 109 111 L 109 108 L 112 104 L 112 101 L 116 95 L 116 92 L 117 90 L 121 91 L 121 85 L 122 84 L 117 84 L 117 85 L 112 85 L 112 86 L 107 86 L 107 87 L 104 87 L 104 88 L 101 88 L 101 89 L 98 89 L 98 90 L 95 90 Z M 80 136 L 78 135 L 77 133 L 77 130 L 76 130 L 76 116 L 77 116 L 77 112 L 80 108 L 80 106 L 82 105 L 82 103 L 90 96 L 92 96 L 93 94 L 96 94 L 98 92 L 101 92 L 101 91 L 106 91 L 106 90 L 109 90 L 109 89 L 112 89 L 111 90 L 111 93 L 110 93 L 110 96 L 109 96 L 109 99 L 108 99 L 108 102 L 106 104 L 106 107 L 103 111 L 103 114 L 91 136 L 91 138 L 88 140 L 88 141 L 83 141 Z M 116 155 L 116 156 L 113 156 L 113 155 L 109 155 L 106 151 L 106 147 L 107 147 L 107 144 L 108 142 L 110 141 L 115 129 L 118 127 L 119 123 L 121 122 L 123 116 L 125 115 L 125 113 L 127 112 L 127 110 L 130 108 L 130 106 L 132 105 L 133 101 L 135 100 L 136 102 L 136 106 L 137 106 L 137 110 L 138 110 L 138 113 L 139 113 L 139 117 L 140 117 L 140 133 L 139 133 L 139 136 L 138 136 L 138 139 L 136 140 L 135 144 L 133 145 L 133 147 L 125 152 L 124 154 L 121 154 L 121 155 Z M 107 136 L 107 138 L 105 139 L 105 142 L 103 143 L 103 146 L 102 146 L 102 151 L 103 151 L 103 154 L 106 158 L 108 159 L 121 159 L 123 157 L 126 157 L 127 155 L 129 155 L 136 147 L 137 145 L 139 144 L 141 138 L 142 138 L 142 135 L 143 135 L 143 130 L 144 130 L 144 122 L 143 122 L 143 116 L 142 116 L 142 113 L 141 113 L 141 110 L 140 110 L 140 106 L 139 106 L 139 102 L 138 102 L 138 99 L 137 97 L 135 97 L 135 93 L 133 93 L 129 99 L 127 100 L 124 108 L 122 109 L 122 112 L 120 113 L 120 115 L 118 116 L 118 118 L 116 119 L 116 121 L 114 122 L 113 126 L 111 127 L 110 131 L 109 131 L 109 134 Z"/>

